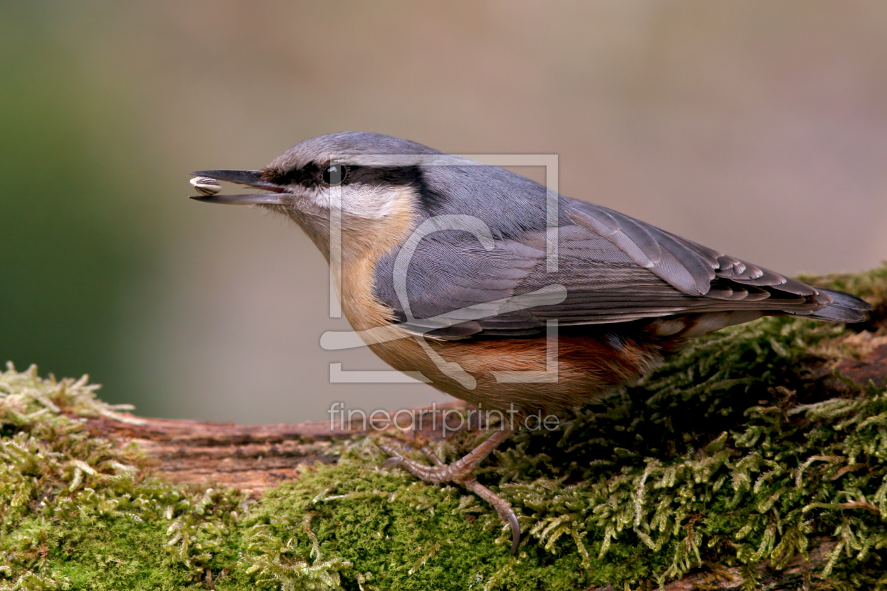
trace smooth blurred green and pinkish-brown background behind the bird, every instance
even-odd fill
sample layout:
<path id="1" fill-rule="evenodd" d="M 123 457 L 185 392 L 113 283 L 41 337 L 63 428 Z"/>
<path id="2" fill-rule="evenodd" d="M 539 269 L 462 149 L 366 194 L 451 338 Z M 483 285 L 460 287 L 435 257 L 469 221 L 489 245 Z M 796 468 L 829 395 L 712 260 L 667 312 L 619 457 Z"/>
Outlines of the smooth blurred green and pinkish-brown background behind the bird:
<path id="1" fill-rule="evenodd" d="M 557 153 L 561 192 L 787 273 L 887 258 L 887 4 L 0 3 L 0 358 L 145 416 L 296 422 L 446 400 L 330 384 L 326 263 L 187 198 L 366 130 Z"/>

